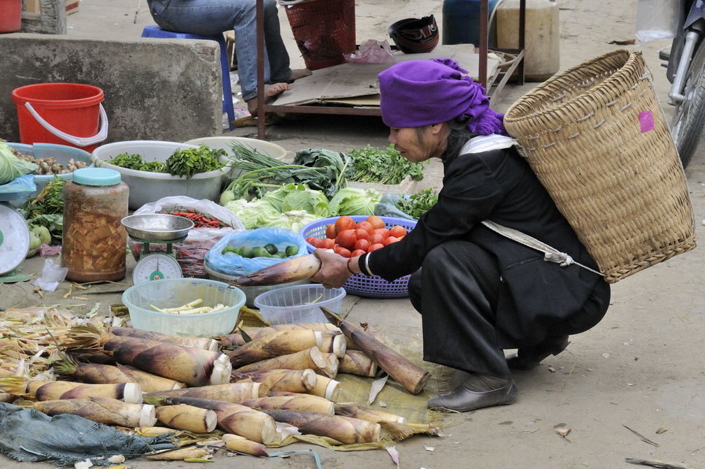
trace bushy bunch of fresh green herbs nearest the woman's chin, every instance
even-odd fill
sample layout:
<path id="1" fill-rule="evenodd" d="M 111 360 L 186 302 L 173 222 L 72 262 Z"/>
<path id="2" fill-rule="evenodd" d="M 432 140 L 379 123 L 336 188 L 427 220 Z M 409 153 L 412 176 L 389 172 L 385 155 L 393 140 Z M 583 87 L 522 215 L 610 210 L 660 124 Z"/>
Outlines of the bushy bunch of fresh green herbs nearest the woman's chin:
<path id="1" fill-rule="evenodd" d="M 353 158 L 354 174 L 350 180 L 376 184 L 400 184 L 405 177 L 420 181 L 424 178 L 423 163 L 410 163 L 403 158 L 393 145 L 378 150 L 371 145 L 348 151 Z"/>

